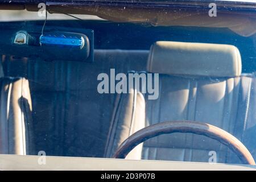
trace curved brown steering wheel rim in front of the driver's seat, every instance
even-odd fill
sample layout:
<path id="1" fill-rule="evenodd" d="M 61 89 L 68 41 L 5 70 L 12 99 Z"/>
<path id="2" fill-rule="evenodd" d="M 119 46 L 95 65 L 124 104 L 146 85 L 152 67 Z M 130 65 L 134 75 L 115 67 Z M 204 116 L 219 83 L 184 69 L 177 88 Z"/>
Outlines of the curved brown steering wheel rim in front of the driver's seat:
<path id="1" fill-rule="evenodd" d="M 242 163 L 255 165 L 249 150 L 232 134 L 216 126 L 195 121 L 168 121 L 144 127 L 123 141 L 115 151 L 113 158 L 125 159 L 126 155 L 138 144 L 147 139 L 171 133 L 193 133 L 215 139 L 229 147 L 240 158 Z"/>

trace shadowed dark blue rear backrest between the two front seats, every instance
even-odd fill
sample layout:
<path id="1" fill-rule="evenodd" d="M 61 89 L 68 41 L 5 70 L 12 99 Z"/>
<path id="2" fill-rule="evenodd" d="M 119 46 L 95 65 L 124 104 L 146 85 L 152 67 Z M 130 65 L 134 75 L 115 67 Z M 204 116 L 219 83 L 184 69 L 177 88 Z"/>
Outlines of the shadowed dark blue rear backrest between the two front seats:
<path id="1" fill-rule="evenodd" d="M 95 49 L 94 62 L 18 60 L 5 57 L 7 76 L 30 82 L 35 151 L 102 157 L 115 94 L 97 92 L 97 76 L 146 69 L 148 50 Z"/>

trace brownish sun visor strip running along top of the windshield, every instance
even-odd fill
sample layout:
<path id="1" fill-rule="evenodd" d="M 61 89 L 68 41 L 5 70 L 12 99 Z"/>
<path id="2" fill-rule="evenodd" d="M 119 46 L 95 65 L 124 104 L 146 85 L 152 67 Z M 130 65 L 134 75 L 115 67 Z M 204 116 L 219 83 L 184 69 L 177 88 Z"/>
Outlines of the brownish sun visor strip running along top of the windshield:
<path id="1" fill-rule="evenodd" d="M 32 9 L 31 9 L 32 10 Z M 33 9 L 34 10 L 34 9 Z M 216 17 L 210 17 L 209 9 L 189 10 L 144 9 L 134 7 L 105 7 L 105 6 L 49 6 L 51 13 L 76 13 L 97 15 L 100 18 L 113 22 L 148 23 L 152 26 L 195 26 L 229 28 L 241 36 L 251 36 L 256 32 L 255 13 L 227 13 L 217 11 Z"/>

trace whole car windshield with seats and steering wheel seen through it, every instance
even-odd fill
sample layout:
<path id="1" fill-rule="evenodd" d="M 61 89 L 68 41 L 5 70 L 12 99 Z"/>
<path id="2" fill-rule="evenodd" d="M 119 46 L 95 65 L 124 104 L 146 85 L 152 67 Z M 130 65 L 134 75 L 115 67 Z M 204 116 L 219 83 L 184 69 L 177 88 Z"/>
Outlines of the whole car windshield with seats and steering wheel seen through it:
<path id="1" fill-rule="evenodd" d="M 255 11 L 0 2 L 0 154 L 255 164 Z"/>

